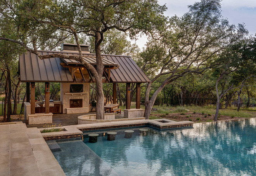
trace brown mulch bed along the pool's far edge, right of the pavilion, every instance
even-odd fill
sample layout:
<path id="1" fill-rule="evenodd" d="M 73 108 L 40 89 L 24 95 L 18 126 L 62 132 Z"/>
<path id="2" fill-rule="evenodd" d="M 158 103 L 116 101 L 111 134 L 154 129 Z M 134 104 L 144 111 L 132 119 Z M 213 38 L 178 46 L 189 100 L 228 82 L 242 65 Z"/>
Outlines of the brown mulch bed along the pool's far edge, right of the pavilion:
<path id="1" fill-rule="evenodd" d="M 207 115 L 205 117 L 205 115 Z M 159 118 L 166 118 L 174 121 L 185 121 L 185 120 L 190 120 L 193 122 L 204 122 L 204 121 L 214 121 L 214 114 L 211 114 L 211 116 L 208 116 L 208 114 L 203 114 L 202 113 L 170 113 L 168 115 L 166 114 L 150 114 L 150 116 L 156 116 Z M 198 119 L 200 118 L 200 120 Z M 223 120 L 235 120 L 235 119 L 240 119 L 241 117 L 231 117 L 231 116 L 223 116 L 221 115 L 218 117 L 218 121 L 223 121 Z"/>

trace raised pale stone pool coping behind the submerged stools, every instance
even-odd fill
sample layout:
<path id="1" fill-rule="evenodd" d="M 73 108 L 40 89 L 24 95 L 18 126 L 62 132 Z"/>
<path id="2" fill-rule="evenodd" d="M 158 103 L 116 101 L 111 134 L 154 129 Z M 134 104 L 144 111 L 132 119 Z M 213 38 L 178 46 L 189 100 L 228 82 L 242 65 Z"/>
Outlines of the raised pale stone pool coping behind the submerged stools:
<path id="1" fill-rule="evenodd" d="M 160 121 L 166 121 L 166 123 L 161 123 Z M 149 125 L 155 128 L 165 129 L 165 128 L 193 126 L 193 123 L 194 122 L 191 122 L 191 121 L 173 121 L 169 119 L 111 121 L 108 123 L 92 123 L 92 124 L 63 126 L 65 131 L 42 133 L 42 136 L 45 140 L 56 140 L 56 139 L 64 139 L 64 138 L 81 137 L 81 134 L 83 133 L 82 131 L 86 131 L 86 130 L 98 130 L 98 129 L 105 129 L 105 128 L 119 128 L 119 127 L 142 126 L 142 125 Z"/>

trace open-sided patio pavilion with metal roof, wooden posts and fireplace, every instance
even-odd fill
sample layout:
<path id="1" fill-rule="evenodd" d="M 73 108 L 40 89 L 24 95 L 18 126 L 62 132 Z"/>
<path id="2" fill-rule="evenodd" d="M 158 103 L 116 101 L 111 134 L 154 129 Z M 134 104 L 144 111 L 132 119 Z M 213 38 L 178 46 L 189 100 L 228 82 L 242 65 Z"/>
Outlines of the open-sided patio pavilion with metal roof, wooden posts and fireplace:
<path id="1" fill-rule="evenodd" d="M 95 54 L 89 52 L 88 45 L 81 45 L 83 59 L 97 68 Z M 61 53 L 78 55 L 76 44 L 62 44 L 61 51 L 40 51 L 42 55 Z M 116 83 L 126 83 L 125 118 L 142 117 L 140 109 L 140 84 L 149 82 L 130 56 L 102 55 L 103 83 L 113 84 L 113 104 L 116 104 Z M 86 114 L 90 110 L 89 84 L 95 79 L 81 63 L 75 60 L 50 58 L 40 60 L 37 55 L 26 52 L 19 56 L 21 82 L 26 82 L 25 120 L 29 125 L 52 123 L 53 114 Z M 35 83 L 45 83 L 45 100 L 35 101 Z M 50 101 L 50 82 L 61 83 L 60 101 Z M 130 86 L 136 83 L 136 109 L 131 109 Z M 78 90 L 79 89 L 79 90 Z M 77 91 L 78 90 L 78 91 Z M 76 116 L 76 115 L 74 115 Z M 68 116 L 66 117 L 68 118 Z"/>

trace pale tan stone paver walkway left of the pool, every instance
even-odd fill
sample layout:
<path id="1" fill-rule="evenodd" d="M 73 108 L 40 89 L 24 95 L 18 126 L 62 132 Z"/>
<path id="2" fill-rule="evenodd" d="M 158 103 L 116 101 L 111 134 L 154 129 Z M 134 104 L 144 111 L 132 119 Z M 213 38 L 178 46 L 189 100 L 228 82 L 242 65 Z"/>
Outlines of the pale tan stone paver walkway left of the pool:
<path id="1" fill-rule="evenodd" d="M 25 123 L 0 125 L 1 176 L 64 176 L 37 128 Z"/>

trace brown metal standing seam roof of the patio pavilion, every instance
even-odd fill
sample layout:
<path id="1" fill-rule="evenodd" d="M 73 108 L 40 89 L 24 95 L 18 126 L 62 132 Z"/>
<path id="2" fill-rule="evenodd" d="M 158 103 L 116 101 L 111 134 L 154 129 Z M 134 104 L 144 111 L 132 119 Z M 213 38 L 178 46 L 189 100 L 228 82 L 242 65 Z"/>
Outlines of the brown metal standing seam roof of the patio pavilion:
<path id="1" fill-rule="evenodd" d="M 39 51 L 42 55 L 53 53 L 78 55 L 78 52 L 67 51 Z M 96 65 L 95 54 L 83 53 L 86 62 Z M 147 76 L 140 70 L 130 56 L 102 55 L 103 65 L 117 66 L 111 69 L 111 82 L 149 82 Z M 75 60 L 50 58 L 41 60 L 37 55 L 27 51 L 19 56 L 19 73 L 21 82 L 73 82 L 68 68 L 60 65 L 81 64 Z"/>

